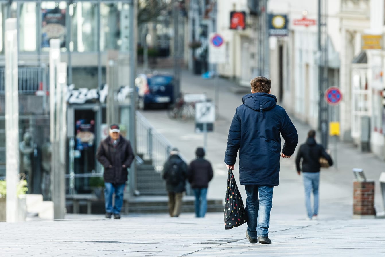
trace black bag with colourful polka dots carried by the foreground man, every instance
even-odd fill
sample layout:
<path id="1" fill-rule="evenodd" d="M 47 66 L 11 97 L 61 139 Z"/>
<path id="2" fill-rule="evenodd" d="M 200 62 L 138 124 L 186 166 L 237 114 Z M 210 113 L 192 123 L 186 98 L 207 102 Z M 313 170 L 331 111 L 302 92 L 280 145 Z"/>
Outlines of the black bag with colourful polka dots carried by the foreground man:
<path id="1" fill-rule="evenodd" d="M 235 182 L 233 171 L 229 169 L 226 198 L 224 201 L 224 228 L 231 229 L 247 222 L 241 193 Z"/>

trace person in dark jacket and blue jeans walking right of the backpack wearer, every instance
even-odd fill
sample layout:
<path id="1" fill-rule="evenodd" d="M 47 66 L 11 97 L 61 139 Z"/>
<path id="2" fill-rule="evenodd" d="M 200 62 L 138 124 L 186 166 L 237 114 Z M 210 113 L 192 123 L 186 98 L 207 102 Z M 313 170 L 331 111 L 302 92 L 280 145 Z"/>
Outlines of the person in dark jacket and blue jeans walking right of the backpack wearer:
<path id="1" fill-rule="evenodd" d="M 195 151 L 196 159 L 191 161 L 187 178 L 195 195 L 195 217 L 203 218 L 207 211 L 207 188 L 213 179 L 211 163 L 204 159 L 204 149 L 198 147 Z"/>

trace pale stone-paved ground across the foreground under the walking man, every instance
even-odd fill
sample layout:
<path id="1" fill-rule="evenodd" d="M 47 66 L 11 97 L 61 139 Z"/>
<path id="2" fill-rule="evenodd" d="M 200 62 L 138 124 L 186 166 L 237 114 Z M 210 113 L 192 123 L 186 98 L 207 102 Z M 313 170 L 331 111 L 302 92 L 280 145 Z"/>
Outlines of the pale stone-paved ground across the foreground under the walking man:
<path id="1" fill-rule="evenodd" d="M 222 213 L 195 218 L 182 213 L 67 215 L 60 221 L 0 223 L 0 256 L 380 256 L 385 254 L 385 222 L 294 220 L 285 214 L 270 222 L 272 244 L 250 244 L 246 224 L 225 230 Z M 276 217 L 279 217 L 276 216 Z M 290 218 L 290 217 L 289 217 Z"/>

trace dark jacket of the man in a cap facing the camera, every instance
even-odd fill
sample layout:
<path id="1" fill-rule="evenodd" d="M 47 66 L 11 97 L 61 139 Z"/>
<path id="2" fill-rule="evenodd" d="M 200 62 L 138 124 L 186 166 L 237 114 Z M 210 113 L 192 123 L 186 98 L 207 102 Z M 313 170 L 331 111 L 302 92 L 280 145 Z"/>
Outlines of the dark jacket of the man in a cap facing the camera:
<path id="1" fill-rule="evenodd" d="M 134 160 L 134 153 L 130 141 L 120 136 L 119 143 L 114 148 L 111 137 L 108 136 L 96 151 L 97 160 L 104 166 L 104 181 L 113 184 L 122 184 L 127 181 L 127 168 Z M 112 168 L 109 166 L 112 165 Z M 126 165 L 126 168 L 122 166 Z"/>

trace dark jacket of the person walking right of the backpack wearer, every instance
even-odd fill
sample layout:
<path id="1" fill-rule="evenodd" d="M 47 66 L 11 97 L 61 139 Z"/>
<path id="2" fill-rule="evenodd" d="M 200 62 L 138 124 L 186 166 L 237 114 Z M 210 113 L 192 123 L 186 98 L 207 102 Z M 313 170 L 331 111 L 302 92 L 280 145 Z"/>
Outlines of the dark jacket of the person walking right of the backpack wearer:
<path id="1" fill-rule="evenodd" d="M 213 175 L 211 163 L 203 157 L 191 161 L 187 171 L 187 178 L 192 188 L 208 188 Z"/>

